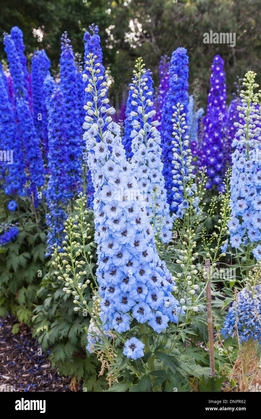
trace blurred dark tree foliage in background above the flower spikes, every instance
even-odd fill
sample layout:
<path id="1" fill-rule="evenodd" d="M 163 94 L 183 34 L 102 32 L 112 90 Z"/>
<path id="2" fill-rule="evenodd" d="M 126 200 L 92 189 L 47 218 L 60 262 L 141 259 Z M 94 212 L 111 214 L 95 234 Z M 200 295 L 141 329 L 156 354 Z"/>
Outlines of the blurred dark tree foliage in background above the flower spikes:
<path id="1" fill-rule="evenodd" d="M 0 32 L 18 25 L 30 58 L 46 49 L 52 69 L 59 72 L 60 36 L 67 30 L 75 52 L 83 52 L 83 32 L 91 23 L 100 28 L 104 64 L 111 80 L 109 95 L 119 106 L 132 77 L 134 61 L 142 56 L 158 84 L 161 55 L 177 47 L 188 50 L 190 93 L 199 79 L 200 104 L 206 106 L 214 55 L 225 60 L 227 93 L 232 99 L 236 76 L 247 70 L 261 76 L 260 0 L 8 0 L 1 1 Z M 37 31 L 38 30 L 38 31 Z M 203 34 L 235 33 L 235 47 L 204 44 Z M 39 42 L 41 40 L 41 42 Z M 0 58 L 5 59 L 3 42 Z"/>

